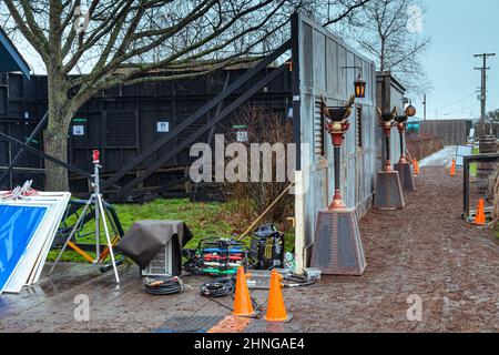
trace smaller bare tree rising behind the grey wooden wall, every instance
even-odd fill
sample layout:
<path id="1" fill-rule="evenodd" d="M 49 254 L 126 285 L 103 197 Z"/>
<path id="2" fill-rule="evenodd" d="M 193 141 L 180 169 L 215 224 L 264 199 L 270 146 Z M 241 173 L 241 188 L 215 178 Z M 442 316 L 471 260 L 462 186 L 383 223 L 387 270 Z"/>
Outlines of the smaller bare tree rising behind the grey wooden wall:
<path id="1" fill-rule="evenodd" d="M 375 59 L 377 70 L 391 71 L 415 93 L 429 88 L 420 62 L 430 43 L 421 33 L 425 11 L 420 0 L 371 0 L 349 30 L 360 51 Z"/>

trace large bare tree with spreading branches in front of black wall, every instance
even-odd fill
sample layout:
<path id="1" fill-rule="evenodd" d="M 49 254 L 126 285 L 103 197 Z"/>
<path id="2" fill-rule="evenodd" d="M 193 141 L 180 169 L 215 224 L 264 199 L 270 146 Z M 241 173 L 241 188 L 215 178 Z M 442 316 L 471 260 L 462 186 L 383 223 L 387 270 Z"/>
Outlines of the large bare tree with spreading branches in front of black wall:
<path id="1" fill-rule="evenodd" d="M 281 44 L 294 11 L 310 8 L 307 0 L 2 1 L 0 23 L 21 33 L 45 67 L 44 150 L 62 161 L 73 115 L 98 92 L 255 60 Z M 338 18 L 358 7 L 357 0 L 329 2 Z M 79 72 L 84 75 L 70 75 Z M 65 170 L 50 162 L 47 189 L 69 189 Z"/>

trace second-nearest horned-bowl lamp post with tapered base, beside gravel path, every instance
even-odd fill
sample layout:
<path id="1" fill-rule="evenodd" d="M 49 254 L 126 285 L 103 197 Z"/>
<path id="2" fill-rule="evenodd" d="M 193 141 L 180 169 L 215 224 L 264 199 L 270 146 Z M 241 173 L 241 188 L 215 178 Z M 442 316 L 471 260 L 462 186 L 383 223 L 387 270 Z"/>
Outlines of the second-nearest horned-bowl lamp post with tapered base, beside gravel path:
<path id="1" fill-rule="evenodd" d="M 378 110 L 378 123 L 385 133 L 386 159 L 384 171 L 378 172 L 374 209 L 376 210 L 398 210 L 405 209 L 406 201 L 401 189 L 398 171 L 394 171 L 390 162 L 390 136 L 397 110 L 391 113 L 381 113 Z"/>

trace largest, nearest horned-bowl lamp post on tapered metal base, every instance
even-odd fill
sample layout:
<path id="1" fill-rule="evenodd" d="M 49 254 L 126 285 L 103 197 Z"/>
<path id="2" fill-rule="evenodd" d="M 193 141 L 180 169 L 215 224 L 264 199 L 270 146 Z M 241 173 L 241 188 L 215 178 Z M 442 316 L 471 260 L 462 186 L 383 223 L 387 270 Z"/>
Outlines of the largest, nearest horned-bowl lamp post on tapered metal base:
<path id="1" fill-rule="evenodd" d="M 328 210 L 318 212 L 310 266 L 325 275 L 360 276 L 367 265 L 357 211 L 347 207 L 340 190 L 340 153 L 352 104 L 353 99 L 345 108 L 327 108 L 323 103 L 322 109 L 323 116 L 330 120 L 326 129 L 334 146 L 335 193 Z"/>

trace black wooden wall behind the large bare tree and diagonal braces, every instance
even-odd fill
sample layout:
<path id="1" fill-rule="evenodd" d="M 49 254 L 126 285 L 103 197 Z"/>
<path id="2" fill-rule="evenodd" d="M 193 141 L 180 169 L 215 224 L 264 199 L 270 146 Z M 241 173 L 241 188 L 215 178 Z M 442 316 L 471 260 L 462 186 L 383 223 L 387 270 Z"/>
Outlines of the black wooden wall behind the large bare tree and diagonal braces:
<path id="1" fill-rule="evenodd" d="M 232 102 L 244 94 L 255 82 L 264 78 L 273 68 L 268 68 L 241 89 L 235 91 L 226 101 Z M 157 83 L 142 83 L 138 85 L 120 85 L 95 95 L 86 102 L 75 114 L 68 132 L 68 160 L 70 164 L 85 171 L 92 170 L 92 150 L 101 151 L 103 178 L 118 171 L 126 162 L 154 144 L 159 139 L 169 134 L 157 130 L 159 122 L 166 122 L 169 131 L 192 115 L 206 102 L 220 94 L 225 85 L 236 81 L 245 74 L 248 68 L 231 68 L 220 70 L 210 75 L 194 79 L 175 80 Z M 0 131 L 18 140 L 24 141 L 47 111 L 48 92 L 47 75 L 32 75 L 27 80 L 17 73 L 0 74 Z M 279 112 L 283 116 L 289 114 L 292 105 L 291 73 L 284 72 L 273 80 L 264 90 L 252 97 L 247 104 L 265 106 Z M 222 104 L 225 108 L 227 103 Z M 224 124 L 216 126 L 215 133 L 227 133 L 237 111 L 224 120 Z M 177 135 L 157 153 L 144 161 L 138 169 L 146 169 L 159 156 L 172 150 L 179 141 L 200 128 L 214 112 L 210 112 L 203 120 L 198 120 L 187 132 Z M 75 134 L 74 128 L 79 129 Z M 200 138 L 200 142 L 207 142 L 210 134 Z M 43 146 L 43 136 L 38 134 L 31 144 L 38 149 Z M 0 173 L 1 166 L 10 163 L 19 148 L 0 139 Z M 177 154 L 164 164 L 162 171 L 156 172 L 144 182 L 145 187 L 159 186 L 171 180 L 184 175 L 183 170 L 172 173 L 172 166 L 190 165 L 192 159 L 189 149 Z M 43 168 L 43 160 L 32 154 L 23 154 L 17 166 Z M 134 178 L 136 171 L 131 171 L 119 181 L 124 182 Z M 43 174 L 13 173 L 13 184 L 20 184 L 28 178 L 34 180 L 35 187 L 43 189 Z M 7 184 L 7 182 L 6 182 Z M 71 174 L 71 191 L 88 191 L 86 179 Z"/>

